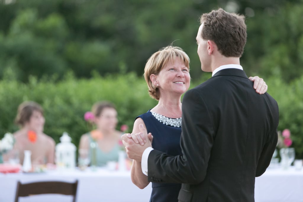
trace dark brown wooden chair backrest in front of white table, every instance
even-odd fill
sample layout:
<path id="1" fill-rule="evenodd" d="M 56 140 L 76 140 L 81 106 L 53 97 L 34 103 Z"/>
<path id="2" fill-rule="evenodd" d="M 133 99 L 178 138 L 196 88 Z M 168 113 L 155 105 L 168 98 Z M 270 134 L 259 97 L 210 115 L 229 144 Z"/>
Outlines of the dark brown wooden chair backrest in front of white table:
<path id="1" fill-rule="evenodd" d="M 76 201 L 78 180 L 73 183 L 62 181 L 43 181 L 22 184 L 20 181 L 17 183 L 15 202 L 18 202 L 19 197 L 26 197 L 37 194 L 64 194 L 72 195 L 73 202 Z"/>

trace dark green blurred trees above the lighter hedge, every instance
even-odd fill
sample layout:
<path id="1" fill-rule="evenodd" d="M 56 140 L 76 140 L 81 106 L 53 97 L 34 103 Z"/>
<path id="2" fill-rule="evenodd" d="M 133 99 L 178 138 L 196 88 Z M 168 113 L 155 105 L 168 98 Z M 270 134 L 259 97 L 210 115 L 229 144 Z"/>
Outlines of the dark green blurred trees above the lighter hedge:
<path id="1" fill-rule="evenodd" d="M 247 16 L 241 63 L 248 75 L 280 72 L 290 81 L 302 74 L 302 0 L 0 0 L 0 78 L 7 68 L 21 81 L 61 79 L 69 70 L 78 78 L 92 71 L 141 76 L 150 55 L 172 42 L 191 58 L 192 78 L 200 78 L 198 19 L 218 7 Z"/>

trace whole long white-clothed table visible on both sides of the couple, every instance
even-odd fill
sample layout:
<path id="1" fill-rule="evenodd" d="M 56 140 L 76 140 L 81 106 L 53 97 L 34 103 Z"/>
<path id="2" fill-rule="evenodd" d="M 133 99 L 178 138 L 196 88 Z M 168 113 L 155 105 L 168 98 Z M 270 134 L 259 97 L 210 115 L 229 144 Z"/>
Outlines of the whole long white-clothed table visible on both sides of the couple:
<path id="1" fill-rule="evenodd" d="M 0 202 L 11 202 L 15 198 L 17 181 L 22 183 L 61 180 L 78 182 L 77 202 L 148 202 L 151 184 L 141 190 L 132 184 L 129 171 L 46 171 L 44 173 L 0 173 Z M 20 202 L 71 201 L 71 196 L 36 195 L 22 197 Z M 255 182 L 255 202 L 303 202 L 303 170 L 268 168 Z"/>

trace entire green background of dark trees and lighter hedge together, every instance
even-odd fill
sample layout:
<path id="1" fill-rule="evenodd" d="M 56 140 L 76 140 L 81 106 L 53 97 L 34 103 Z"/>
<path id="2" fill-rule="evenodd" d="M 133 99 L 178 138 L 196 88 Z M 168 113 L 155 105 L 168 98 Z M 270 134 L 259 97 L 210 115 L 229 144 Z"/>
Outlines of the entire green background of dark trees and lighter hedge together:
<path id="1" fill-rule="evenodd" d="M 205 81 L 195 37 L 213 8 L 247 17 L 241 64 L 278 101 L 279 130 L 289 128 L 303 158 L 303 0 L 0 0 L 0 138 L 14 132 L 18 105 L 45 110 L 45 133 L 64 131 L 78 145 L 96 101 L 112 101 L 119 126 L 156 101 L 142 78 L 146 60 L 174 42 L 191 58 L 191 87 Z"/>

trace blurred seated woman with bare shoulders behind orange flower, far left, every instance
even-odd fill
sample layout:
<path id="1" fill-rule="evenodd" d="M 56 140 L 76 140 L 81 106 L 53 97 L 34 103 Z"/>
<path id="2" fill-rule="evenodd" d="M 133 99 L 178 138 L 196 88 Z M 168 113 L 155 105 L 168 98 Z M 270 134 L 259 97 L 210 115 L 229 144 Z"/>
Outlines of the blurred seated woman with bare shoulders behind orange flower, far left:
<path id="1" fill-rule="evenodd" d="M 55 141 L 43 133 L 45 118 L 42 107 L 33 101 L 25 101 L 18 107 L 15 123 L 20 130 L 14 133 L 14 150 L 19 152 L 23 163 L 24 151 L 30 150 L 32 164 L 54 164 Z M 10 154 L 4 158 L 7 160 Z"/>

